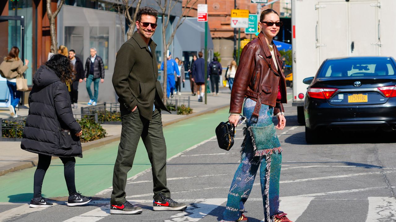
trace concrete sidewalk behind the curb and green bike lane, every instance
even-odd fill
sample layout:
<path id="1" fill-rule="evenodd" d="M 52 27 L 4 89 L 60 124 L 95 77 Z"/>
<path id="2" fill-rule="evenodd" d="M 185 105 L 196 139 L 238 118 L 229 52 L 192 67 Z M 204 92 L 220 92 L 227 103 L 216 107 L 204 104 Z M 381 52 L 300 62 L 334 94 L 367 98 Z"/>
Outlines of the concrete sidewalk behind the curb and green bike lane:
<path id="1" fill-rule="evenodd" d="M 182 96 L 191 96 L 191 93 L 182 92 Z M 177 97 L 177 96 L 176 96 Z M 172 115 L 166 112 L 162 112 L 163 126 L 168 126 L 181 120 L 189 119 L 206 113 L 212 113 L 219 109 L 228 107 L 230 104 L 230 90 L 228 88 L 220 88 L 218 96 L 208 94 L 208 104 L 204 102 L 198 102 L 197 96 L 191 96 L 190 107 L 193 109 L 193 113 L 190 115 Z M 73 113 L 78 115 L 81 112 L 80 107 L 87 106 L 86 103 L 79 103 L 78 109 L 73 109 Z M 25 116 L 28 114 L 28 109 L 20 109 L 17 111 L 19 116 Z M 8 108 L 0 108 L 0 118 L 10 118 L 10 111 Z M 100 147 L 108 143 L 119 141 L 121 134 L 121 124 L 102 124 L 103 128 L 107 131 L 107 137 L 83 143 L 83 151 Z M 0 142 L 0 176 L 13 171 L 34 167 L 38 162 L 38 155 L 32 152 L 27 152 L 21 149 L 21 142 Z"/>

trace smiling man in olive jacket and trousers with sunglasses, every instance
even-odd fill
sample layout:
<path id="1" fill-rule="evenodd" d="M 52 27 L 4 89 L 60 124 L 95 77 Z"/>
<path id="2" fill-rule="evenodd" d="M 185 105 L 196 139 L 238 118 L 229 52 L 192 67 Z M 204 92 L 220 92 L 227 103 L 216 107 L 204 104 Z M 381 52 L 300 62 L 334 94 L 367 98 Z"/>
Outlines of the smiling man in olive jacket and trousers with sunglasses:
<path id="1" fill-rule="evenodd" d="M 122 116 L 121 141 L 114 164 L 111 214 L 139 214 L 140 207 L 126 200 L 127 173 L 140 137 L 145 144 L 153 175 L 154 211 L 179 211 L 187 208 L 170 199 L 166 186 L 166 145 L 162 131 L 161 109 L 164 96 L 157 80 L 156 43 L 151 36 L 157 26 L 158 12 L 150 7 L 139 9 L 135 32 L 120 48 L 114 66 L 113 86 L 119 96 Z M 169 112 L 169 111 L 168 111 Z"/>

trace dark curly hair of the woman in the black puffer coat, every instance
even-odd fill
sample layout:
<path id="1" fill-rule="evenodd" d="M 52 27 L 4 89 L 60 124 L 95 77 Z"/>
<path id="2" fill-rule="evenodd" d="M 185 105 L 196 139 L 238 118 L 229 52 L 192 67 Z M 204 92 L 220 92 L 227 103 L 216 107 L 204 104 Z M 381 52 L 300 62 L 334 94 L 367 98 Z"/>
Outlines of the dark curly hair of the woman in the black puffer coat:
<path id="1" fill-rule="evenodd" d="M 70 62 L 70 59 L 64 55 L 52 55 L 44 65 L 55 71 L 55 74 L 63 83 L 70 83 L 75 77 L 74 73 L 76 73 L 76 71 L 74 70 L 74 66 Z"/>

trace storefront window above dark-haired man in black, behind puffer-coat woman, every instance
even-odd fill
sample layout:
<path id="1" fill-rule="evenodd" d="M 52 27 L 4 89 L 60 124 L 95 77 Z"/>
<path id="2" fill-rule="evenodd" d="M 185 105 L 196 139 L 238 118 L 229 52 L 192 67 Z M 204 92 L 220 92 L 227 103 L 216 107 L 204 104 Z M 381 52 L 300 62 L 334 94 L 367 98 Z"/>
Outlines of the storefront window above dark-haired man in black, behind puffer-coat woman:
<path id="1" fill-rule="evenodd" d="M 84 27 L 65 26 L 65 45 L 76 51 L 76 56 L 84 60 Z"/>

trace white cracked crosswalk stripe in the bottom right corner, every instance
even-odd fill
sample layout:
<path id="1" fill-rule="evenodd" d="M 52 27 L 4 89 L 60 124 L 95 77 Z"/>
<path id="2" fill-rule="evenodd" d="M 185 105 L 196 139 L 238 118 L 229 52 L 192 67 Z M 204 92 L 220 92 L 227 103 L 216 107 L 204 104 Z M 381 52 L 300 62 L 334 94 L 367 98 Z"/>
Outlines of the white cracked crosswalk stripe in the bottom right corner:
<path id="1" fill-rule="evenodd" d="M 395 221 L 396 199 L 393 197 L 369 197 L 369 210 L 366 222 Z"/>

